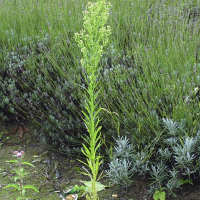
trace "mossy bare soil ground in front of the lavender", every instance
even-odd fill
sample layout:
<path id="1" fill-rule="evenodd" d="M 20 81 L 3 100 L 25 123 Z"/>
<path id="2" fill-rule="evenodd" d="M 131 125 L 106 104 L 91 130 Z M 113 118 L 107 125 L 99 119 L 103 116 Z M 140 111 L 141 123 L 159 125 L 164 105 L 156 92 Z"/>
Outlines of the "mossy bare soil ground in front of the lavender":
<path id="1" fill-rule="evenodd" d="M 37 141 L 33 134 L 33 129 L 27 127 L 29 132 L 23 134 L 20 138 L 20 130 L 11 134 L 16 125 L 0 126 L 0 200 L 14 200 L 18 196 L 17 191 L 12 189 L 3 189 L 7 184 L 13 183 L 13 170 L 16 165 L 6 163 L 7 160 L 15 159 L 14 151 L 25 151 L 24 161 L 32 163 L 35 167 L 24 166 L 25 172 L 29 174 L 24 179 L 23 184 L 31 184 L 40 192 L 27 190 L 27 200 L 59 200 L 60 194 L 72 188 L 74 185 L 81 185 L 81 180 L 89 180 L 88 177 L 80 173 L 82 164 L 77 158 L 66 154 L 61 154 L 55 150 L 44 146 Z M 134 177 L 133 177 L 134 178 Z M 108 185 L 106 178 L 100 180 Z M 119 186 L 107 188 L 99 192 L 100 200 L 150 200 L 146 193 L 148 182 L 146 180 L 135 180 L 127 189 L 121 189 Z M 200 199 L 200 184 L 184 185 L 176 191 L 177 197 L 169 197 L 173 200 L 197 200 Z M 80 198 L 82 200 L 85 197 Z"/>

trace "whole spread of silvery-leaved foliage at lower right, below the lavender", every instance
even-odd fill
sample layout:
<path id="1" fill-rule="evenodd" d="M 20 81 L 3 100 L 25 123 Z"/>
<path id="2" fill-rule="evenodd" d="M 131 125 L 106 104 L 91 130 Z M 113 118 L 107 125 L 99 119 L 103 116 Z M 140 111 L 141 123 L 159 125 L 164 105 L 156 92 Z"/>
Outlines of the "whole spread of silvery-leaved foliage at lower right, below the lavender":
<path id="1" fill-rule="evenodd" d="M 153 145 L 153 152 L 137 151 L 127 137 L 116 139 L 108 177 L 112 184 L 128 187 L 139 176 L 151 181 L 150 194 L 165 190 L 176 196 L 177 188 L 193 184 L 199 177 L 200 131 L 189 136 L 184 130 L 186 122 L 163 118 L 162 136 Z M 147 159 L 148 158 L 148 159 Z"/>

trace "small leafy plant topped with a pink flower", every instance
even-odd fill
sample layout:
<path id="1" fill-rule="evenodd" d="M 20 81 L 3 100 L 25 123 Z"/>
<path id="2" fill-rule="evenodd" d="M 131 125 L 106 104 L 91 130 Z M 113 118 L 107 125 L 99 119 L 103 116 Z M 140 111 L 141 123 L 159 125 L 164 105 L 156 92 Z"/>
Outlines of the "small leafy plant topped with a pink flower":
<path id="1" fill-rule="evenodd" d="M 31 163 L 28 162 L 22 162 L 22 158 L 24 156 L 25 152 L 21 151 L 15 151 L 14 155 L 17 157 L 17 160 L 9 160 L 6 162 L 9 163 L 16 163 L 18 164 L 18 169 L 15 170 L 15 173 L 17 174 L 17 176 L 14 177 L 14 181 L 16 182 L 17 180 L 19 180 L 19 183 L 15 183 L 15 184 L 8 184 L 5 188 L 15 188 L 16 190 L 19 191 L 20 196 L 18 196 L 16 198 L 16 200 L 20 200 L 20 199 L 27 199 L 27 197 L 25 197 L 25 192 L 26 189 L 33 189 L 35 192 L 39 192 L 37 188 L 35 188 L 32 185 L 25 185 L 23 186 L 23 178 L 28 174 L 24 172 L 24 168 L 22 168 L 22 165 L 30 165 L 32 167 L 34 167 Z"/>

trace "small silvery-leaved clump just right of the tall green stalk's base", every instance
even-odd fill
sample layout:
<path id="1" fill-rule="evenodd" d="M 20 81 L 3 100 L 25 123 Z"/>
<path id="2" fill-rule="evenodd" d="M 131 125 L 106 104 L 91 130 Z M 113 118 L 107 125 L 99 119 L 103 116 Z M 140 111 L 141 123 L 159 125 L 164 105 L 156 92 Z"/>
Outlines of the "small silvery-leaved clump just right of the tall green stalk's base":
<path id="1" fill-rule="evenodd" d="M 128 187 L 133 181 L 133 175 L 137 173 L 145 177 L 150 170 L 147 154 L 136 152 L 127 137 L 116 139 L 116 147 L 112 161 L 109 163 L 108 177 L 113 184 Z"/>

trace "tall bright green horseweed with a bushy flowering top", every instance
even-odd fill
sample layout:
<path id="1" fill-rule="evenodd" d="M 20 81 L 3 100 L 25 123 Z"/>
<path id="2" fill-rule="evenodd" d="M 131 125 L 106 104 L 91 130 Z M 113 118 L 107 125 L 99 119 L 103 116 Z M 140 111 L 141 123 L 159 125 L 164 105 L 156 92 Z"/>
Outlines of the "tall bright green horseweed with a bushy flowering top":
<path id="1" fill-rule="evenodd" d="M 84 71 L 84 77 L 88 88 L 85 94 L 85 109 L 83 111 L 85 116 L 84 122 L 89 132 L 89 136 L 84 138 L 86 143 L 89 144 L 89 148 L 83 144 L 83 154 L 87 157 L 87 163 L 84 163 L 91 170 L 91 173 L 87 171 L 87 175 L 91 179 L 91 191 L 88 198 L 98 199 L 97 196 L 97 175 L 99 166 L 101 164 L 101 156 L 96 155 L 97 150 L 101 146 L 100 142 L 100 130 L 101 126 L 98 126 L 100 119 L 98 113 L 97 98 L 99 91 L 97 91 L 97 78 L 98 78 L 98 63 L 103 53 L 103 48 L 108 43 L 108 37 L 111 34 L 110 27 L 105 27 L 109 16 L 110 3 L 104 1 L 98 1 L 96 3 L 88 3 L 86 11 L 84 11 L 84 30 L 80 33 L 76 33 L 75 39 L 78 42 L 82 52 L 81 64 Z"/>

